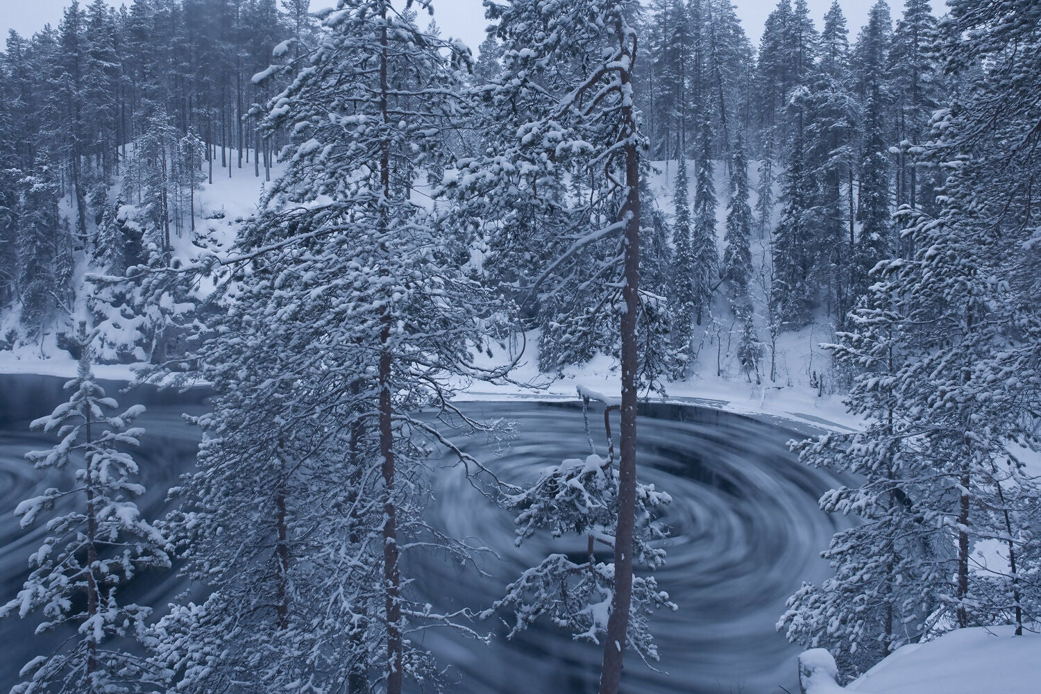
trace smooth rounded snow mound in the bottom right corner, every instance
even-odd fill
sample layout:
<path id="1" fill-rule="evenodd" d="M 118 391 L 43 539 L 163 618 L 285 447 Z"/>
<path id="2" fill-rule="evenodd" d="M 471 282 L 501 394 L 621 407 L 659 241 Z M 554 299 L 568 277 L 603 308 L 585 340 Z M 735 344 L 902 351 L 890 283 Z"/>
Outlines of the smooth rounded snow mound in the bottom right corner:
<path id="1" fill-rule="evenodd" d="M 858 694 L 1037 694 L 1041 637 L 1014 636 L 1012 626 L 949 632 L 894 653 L 844 691 Z M 820 694 L 843 690 L 820 690 Z M 817 694 L 817 690 L 810 690 Z"/>

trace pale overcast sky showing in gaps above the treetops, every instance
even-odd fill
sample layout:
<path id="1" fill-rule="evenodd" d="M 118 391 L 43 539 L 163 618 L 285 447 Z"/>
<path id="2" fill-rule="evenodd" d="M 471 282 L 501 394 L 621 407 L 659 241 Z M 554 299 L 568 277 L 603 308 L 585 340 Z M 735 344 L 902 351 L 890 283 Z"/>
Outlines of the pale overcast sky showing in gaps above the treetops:
<path id="1" fill-rule="evenodd" d="M 119 6 L 128 0 L 108 0 Z M 46 23 L 56 25 L 61 19 L 61 10 L 70 0 L 0 0 L 0 35 L 6 37 L 8 29 L 29 35 Z M 744 30 L 754 43 L 758 45 L 766 16 L 777 4 L 777 0 L 733 0 L 737 6 Z M 832 0 L 809 0 L 810 12 L 820 28 L 821 18 L 831 5 Z M 943 0 L 932 0 L 933 9 L 937 14 L 943 10 Z M 88 0 L 80 0 L 85 5 Z M 335 4 L 335 0 L 311 0 L 315 9 Z M 861 25 L 867 21 L 869 0 L 839 0 L 849 24 L 850 38 L 857 36 Z M 903 7 L 903 0 L 891 0 L 894 15 Z M 437 23 L 446 34 L 462 38 L 474 48 L 484 40 L 484 28 L 487 22 L 481 9 L 481 0 L 435 0 Z"/>

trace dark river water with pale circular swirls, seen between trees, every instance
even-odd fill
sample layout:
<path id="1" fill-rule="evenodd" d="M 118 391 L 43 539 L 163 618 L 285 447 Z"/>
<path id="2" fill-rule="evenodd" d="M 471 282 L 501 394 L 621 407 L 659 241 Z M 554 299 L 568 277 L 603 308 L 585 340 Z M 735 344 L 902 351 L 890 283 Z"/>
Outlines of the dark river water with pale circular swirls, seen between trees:
<path id="1" fill-rule="evenodd" d="M 26 559 L 43 531 L 23 532 L 11 511 L 28 496 L 52 486 L 25 462 L 28 449 L 51 445 L 50 435 L 30 432 L 30 419 L 61 400 L 61 379 L 0 377 L 0 600 L 15 596 L 28 574 Z M 117 384 L 107 384 L 109 392 Z M 159 396 L 134 393 L 148 405 L 147 430 L 138 460 L 149 493 L 143 512 L 164 512 L 166 490 L 189 469 L 198 441 L 181 413 L 199 412 L 201 394 Z M 129 402 L 128 396 L 121 404 Z M 122 402 L 126 401 L 126 402 Z M 468 453 L 487 461 L 503 479 L 532 481 L 539 469 L 562 458 L 584 456 L 588 444 L 582 413 L 574 405 L 472 403 L 468 414 L 506 418 L 517 437 L 492 451 L 481 437 L 460 438 Z M 654 618 L 661 660 L 652 669 L 627 660 L 624 691 L 652 694 L 779 693 L 796 691 L 794 656 L 773 624 L 785 598 L 803 581 L 819 581 L 827 565 L 818 559 L 837 521 L 817 510 L 816 499 L 838 481 L 823 470 L 799 465 L 787 452 L 792 432 L 739 415 L 696 407 L 655 405 L 639 420 L 640 479 L 674 498 L 663 520 L 670 529 L 668 560 L 657 573 L 679 611 Z M 594 443 L 605 453 L 602 417 L 591 413 Z M 596 427 L 601 423 L 601 427 Z M 449 456 L 431 493 L 430 520 L 457 537 L 474 537 L 494 549 L 479 563 L 487 574 L 449 564 L 437 556 L 410 567 L 421 592 L 435 607 L 486 608 L 506 583 L 550 551 L 584 551 L 581 538 L 536 538 L 513 545 L 510 517 L 477 494 Z M 173 572 L 144 574 L 124 596 L 157 608 L 182 588 Z M 508 618 L 508 615 L 499 617 Z M 578 643 L 552 625 L 538 624 L 513 641 L 501 618 L 474 624 L 496 635 L 483 645 L 445 632 L 426 632 L 426 646 L 450 666 L 453 692 L 594 692 L 600 647 Z M 0 622 L 0 692 L 17 682 L 18 670 L 43 651 L 31 636 L 32 620 Z"/>

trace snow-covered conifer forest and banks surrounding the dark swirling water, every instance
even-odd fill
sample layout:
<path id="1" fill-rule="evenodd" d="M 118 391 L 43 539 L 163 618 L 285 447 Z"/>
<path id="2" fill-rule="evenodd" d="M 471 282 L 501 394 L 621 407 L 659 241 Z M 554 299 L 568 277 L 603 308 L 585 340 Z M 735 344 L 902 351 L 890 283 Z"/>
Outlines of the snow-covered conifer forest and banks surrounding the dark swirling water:
<path id="1" fill-rule="evenodd" d="M 7 36 L 0 371 L 76 362 L 26 413 L 62 486 L 15 510 L 46 533 L 0 594 L 0 634 L 65 638 L 12 694 L 469 691 L 425 635 L 537 622 L 637 691 L 687 608 L 655 579 L 678 494 L 644 479 L 644 408 L 720 389 L 854 423 L 791 441 L 849 520 L 778 639 L 845 685 L 1037 632 L 1041 4 L 879 0 L 854 35 L 839 0 L 819 26 L 780 0 L 755 46 L 731 0 L 484 0 L 467 47 L 449 2 L 73 0 Z M 209 393 L 160 517 L 112 365 Z M 533 379 L 578 386 L 584 431 L 511 477 L 517 427 L 460 395 Z M 430 519 L 445 465 L 509 542 L 579 549 L 426 601 L 413 555 L 498 551 Z M 124 599 L 160 572 L 194 588 Z"/>

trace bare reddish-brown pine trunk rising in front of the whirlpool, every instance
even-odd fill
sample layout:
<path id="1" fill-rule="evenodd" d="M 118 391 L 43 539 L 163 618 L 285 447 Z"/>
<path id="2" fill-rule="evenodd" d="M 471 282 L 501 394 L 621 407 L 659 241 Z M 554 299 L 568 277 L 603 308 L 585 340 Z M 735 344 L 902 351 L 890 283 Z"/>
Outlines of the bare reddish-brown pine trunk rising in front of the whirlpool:
<path id="1" fill-rule="evenodd" d="M 628 47 L 629 37 L 623 32 L 623 21 L 616 20 L 616 32 L 623 53 L 630 59 L 628 69 L 619 71 L 623 94 L 623 134 L 625 146 L 626 185 L 628 191 L 621 216 L 625 230 L 625 286 L 621 295 L 626 311 L 621 315 L 621 427 L 618 442 L 618 521 L 614 532 L 614 596 L 607 620 L 604 640 L 604 664 L 600 676 L 600 694 L 617 694 L 621 684 L 621 668 L 629 629 L 629 608 L 633 592 L 633 535 L 636 508 L 636 374 L 639 355 L 636 342 L 636 318 L 639 305 L 640 278 L 640 160 L 637 149 L 637 125 L 632 102 L 632 68 L 636 58 L 636 38 Z"/>

